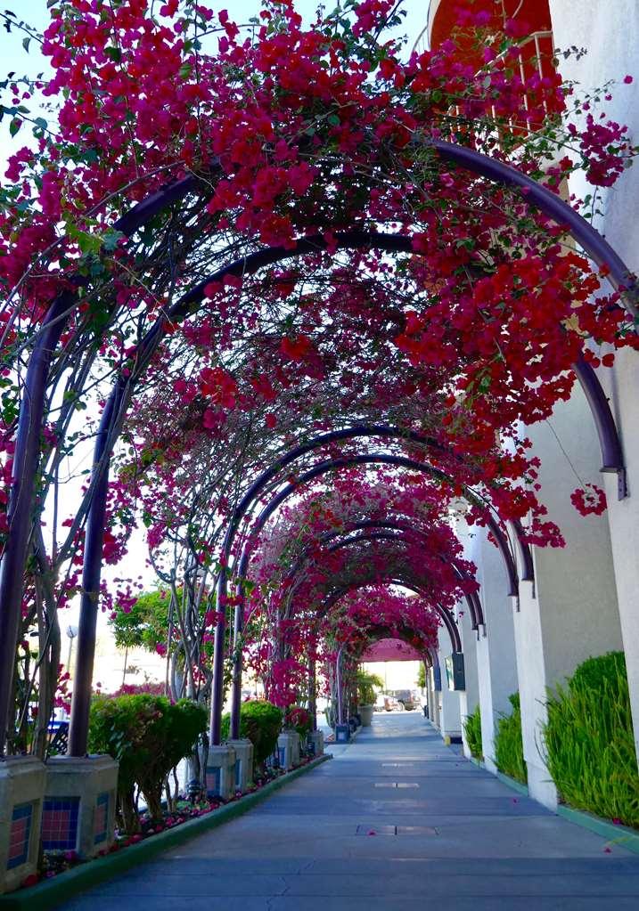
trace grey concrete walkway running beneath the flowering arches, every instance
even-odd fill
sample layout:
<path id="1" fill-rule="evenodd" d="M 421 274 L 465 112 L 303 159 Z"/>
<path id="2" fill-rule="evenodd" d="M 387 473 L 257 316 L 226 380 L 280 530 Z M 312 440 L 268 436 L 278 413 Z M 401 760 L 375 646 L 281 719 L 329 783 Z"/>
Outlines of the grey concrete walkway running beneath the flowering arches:
<path id="1" fill-rule="evenodd" d="M 421 714 L 64 911 L 637 911 L 639 855 L 445 747 Z M 431 904 L 428 904 L 431 903 Z"/>

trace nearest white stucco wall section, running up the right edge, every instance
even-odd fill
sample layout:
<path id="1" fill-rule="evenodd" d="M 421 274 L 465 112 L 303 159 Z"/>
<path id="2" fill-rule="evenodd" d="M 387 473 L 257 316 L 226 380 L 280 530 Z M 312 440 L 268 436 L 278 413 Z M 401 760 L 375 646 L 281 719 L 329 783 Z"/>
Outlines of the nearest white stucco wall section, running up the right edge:
<path id="1" fill-rule="evenodd" d="M 630 128 L 630 140 L 639 144 L 639 3 L 637 0 L 550 0 L 555 45 L 586 47 L 581 60 L 562 61 L 562 74 L 584 88 L 610 79 L 613 100 L 603 102 L 607 118 Z M 627 75 L 634 77 L 624 85 Z M 589 191 L 582 178 L 572 178 L 571 191 L 579 197 Z M 628 169 L 612 189 L 603 192 L 603 217 L 594 221 L 629 268 L 639 271 L 639 162 Z M 628 668 L 634 733 L 639 755 L 639 355 L 621 353 L 613 370 L 601 369 L 624 446 L 630 496 L 619 501 L 616 477 L 605 476 L 613 549 L 614 572 Z"/>

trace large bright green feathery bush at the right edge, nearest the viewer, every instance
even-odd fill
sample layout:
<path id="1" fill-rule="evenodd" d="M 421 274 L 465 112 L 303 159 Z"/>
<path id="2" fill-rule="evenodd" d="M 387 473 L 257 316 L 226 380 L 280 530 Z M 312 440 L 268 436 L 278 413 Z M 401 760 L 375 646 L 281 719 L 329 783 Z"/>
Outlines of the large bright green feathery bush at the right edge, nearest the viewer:
<path id="1" fill-rule="evenodd" d="M 590 658 L 548 700 L 546 763 L 562 800 L 578 810 L 639 828 L 624 653 Z"/>

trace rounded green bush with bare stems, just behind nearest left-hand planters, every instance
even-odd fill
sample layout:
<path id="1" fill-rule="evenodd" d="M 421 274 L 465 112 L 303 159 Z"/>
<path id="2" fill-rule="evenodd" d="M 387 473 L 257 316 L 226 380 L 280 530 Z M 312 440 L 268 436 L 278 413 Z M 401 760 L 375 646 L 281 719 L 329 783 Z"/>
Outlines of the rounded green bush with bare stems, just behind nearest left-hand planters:
<path id="1" fill-rule="evenodd" d="M 166 777 L 180 759 L 191 755 L 206 722 L 203 706 L 186 699 L 171 704 L 164 696 L 138 693 L 93 700 L 88 748 L 119 760 L 119 824 L 126 832 L 139 832 L 136 785 L 151 818 L 161 818 Z"/>

